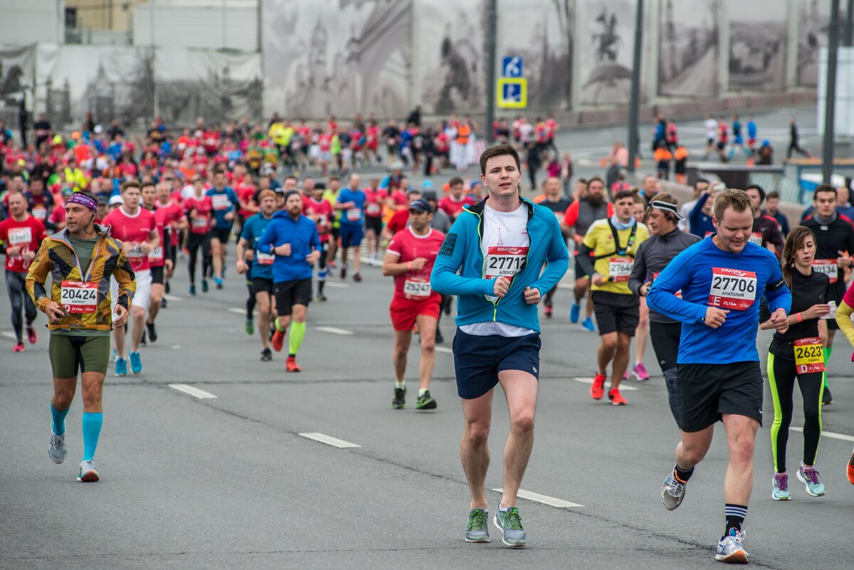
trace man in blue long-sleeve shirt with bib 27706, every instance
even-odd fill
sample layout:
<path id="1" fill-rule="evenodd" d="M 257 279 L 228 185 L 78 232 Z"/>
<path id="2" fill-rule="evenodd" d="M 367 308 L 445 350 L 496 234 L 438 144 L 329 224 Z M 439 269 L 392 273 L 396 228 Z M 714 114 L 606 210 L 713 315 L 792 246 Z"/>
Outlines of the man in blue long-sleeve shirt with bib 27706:
<path id="1" fill-rule="evenodd" d="M 676 359 L 681 442 L 661 497 L 667 509 L 681 504 L 694 465 L 709 451 L 715 423 L 722 421 L 730 450 L 723 483 L 727 522 L 716 560 L 746 563 L 741 525 L 762 422 L 759 300 L 764 295 L 771 321 L 785 332 L 792 295 L 774 253 L 750 242 L 753 203 L 743 190 L 729 189 L 717 197 L 713 223 L 717 234 L 677 255 L 646 295 L 652 310 L 682 323 Z"/>

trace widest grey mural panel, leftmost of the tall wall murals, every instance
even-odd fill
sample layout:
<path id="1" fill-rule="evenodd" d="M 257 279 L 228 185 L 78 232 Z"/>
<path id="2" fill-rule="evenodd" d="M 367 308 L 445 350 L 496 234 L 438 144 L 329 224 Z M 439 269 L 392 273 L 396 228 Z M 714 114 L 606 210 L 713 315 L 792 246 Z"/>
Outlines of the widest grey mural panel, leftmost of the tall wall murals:
<path id="1" fill-rule="evenodd" d="M 261 0 L 264 113 L 401 116 L 412 0 Z"/>

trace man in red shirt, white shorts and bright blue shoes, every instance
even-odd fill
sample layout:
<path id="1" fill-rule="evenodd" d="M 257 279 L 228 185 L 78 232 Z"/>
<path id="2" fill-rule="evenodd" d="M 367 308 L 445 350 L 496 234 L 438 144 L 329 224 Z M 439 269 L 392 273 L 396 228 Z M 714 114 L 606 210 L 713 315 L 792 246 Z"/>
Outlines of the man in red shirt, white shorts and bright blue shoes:
<path id="1" fill-rule="evenodd" d="M 136 276 L 137 291 L 133 294 L 131 316 L 131 371 L 138 375 L 143 371 L 143 360 L 139 356 L 139 343 L 145 332 L 145 313 L 151 303 L 151 263 L 149 253 L 160 245 L 160 235 L 155 225 L 155 215 L 140 207 L 140 187 L 136 180 L 128 180 L 121 185 L 121 199 L 124 203 L 107 214 L 102 224 L 109 226 L 110 237 L 120 240 Z M 119 295 L 113 295 L 114 300 Z M 115 345 L 115 375 L 127 375 L 125 359 L 125 328 L 113 329 Z"/>

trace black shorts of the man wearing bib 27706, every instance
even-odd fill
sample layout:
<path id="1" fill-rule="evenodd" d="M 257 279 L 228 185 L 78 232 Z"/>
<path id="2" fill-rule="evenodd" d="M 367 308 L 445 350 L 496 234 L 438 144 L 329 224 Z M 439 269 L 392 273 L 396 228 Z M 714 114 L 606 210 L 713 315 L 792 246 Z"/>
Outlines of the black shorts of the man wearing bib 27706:
<path id="1" fill-rule="evenodd" d="M 752 417 L 762 425 L 763 379 L 758 362 L 679 364 L 683 432 L 699 432 L 723 414 Z"/>

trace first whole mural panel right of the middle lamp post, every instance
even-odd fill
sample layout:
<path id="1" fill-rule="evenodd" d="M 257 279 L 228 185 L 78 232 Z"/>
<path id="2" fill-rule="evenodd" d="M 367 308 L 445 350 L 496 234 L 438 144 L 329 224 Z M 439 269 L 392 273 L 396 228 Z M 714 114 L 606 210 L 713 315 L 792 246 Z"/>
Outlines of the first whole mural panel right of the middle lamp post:
<path id="1" fill-rule="evenodd" d="M 721 2 L 662 0 L 658 95 L 717 96 Z"/>

